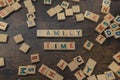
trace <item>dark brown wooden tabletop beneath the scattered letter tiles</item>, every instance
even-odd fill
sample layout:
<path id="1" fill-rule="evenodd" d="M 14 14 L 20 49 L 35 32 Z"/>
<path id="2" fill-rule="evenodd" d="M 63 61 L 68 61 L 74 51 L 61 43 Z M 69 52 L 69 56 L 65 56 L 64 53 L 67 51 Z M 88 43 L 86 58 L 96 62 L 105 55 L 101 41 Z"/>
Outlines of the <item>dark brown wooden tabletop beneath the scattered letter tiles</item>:
<path id="1" fill-rule="evenodd" d="M 66 0 L 71 3 L 71 5 L 80 5 L 81 13 L 84 13 L 85 10 L 92 11 L 101 15 L 101 18 L 98 23 L 103 20 L 104 14 L 100 12 L 102 0 L 81 0 L 80 3 L 74 3 L 72 0 Z M 62 0 L 53 0 L 52 6 L 61 4 Z M 23 5 L 23 2 L 21 2 Z M 18 76 L 18 66 L 30 65 L 30 55 L 33 53 L 40 53 L 41 61 L 36 63 L 37 70 L 41 64 L 45 64 L 50 68 L 54 69 L 58 73 L 64 76 L 65 80 L 76 80 L 74 73 L 84 68 L 85 64 L 80 66 L 74 72 L 71 72 L 68 68 L 65 71 L 62 71 L 57 68 L 56 64 L 62 58 L 67 62 L 71 62 L 72 59 L 78 55 L 81 55 L 87 62 L 88 58 L 92 58 L 97 61 L 97 66 L 93 74 L 104 73 L 104 71 L 109 70 L 108 65 L 113 61 L 112 56 L 120 51 L 120 39 L 109 38 L 101 46 L 96 41 L 98 33 L 94 30 L 98 23 L 85 20 L 84 22 L 77 23 L 75 21 L 75 16 L 67 17 L 65 21 L 57 21 L 57 17 L 50 18 L 46 11 L 51 6 L 45 6 L 43 0 L 37 0 L 34 2 L 36 7 L 36 24 L 37 26 L 32 29 L 27 28 L 26 24 L 26 13 L 27 10 L 22 6 L 22 9 L 11 14 L 2 21 L 8 22 L 9 27 L 6 32 L 0 31 L 0 33 L 7 33 L 9 35 L 8 43 L 0 43 L 0 57 L 5 58 L 6 66 L 0 68 L 0 80 L 48 80 L 40 73 L 37 72 L 36 75 L 29 76 Z M 70 5 L 70 7 L 71 7 Z M 112 0 L 110 12 L 116 16 L 120 15 L 120 0 Z M 37 38 L 36 30 L 37 29 L 82 29 L 83 37 L 82 38 Z M 25 42 L 31 46 L 30 51 L 27 54 L 24 54 L 19 51 L 21 44 L 16 45 L 13 40 L 13 36 L 16 34 L 23 34 Z M 83 48 L 83 44 L 86 40 L 94 42 L 94 47 L 91 51 L 87 51 Z M 45 41 L 75 41 L 76 50 L 75 51 L 44 51 L 43 42 Z M 119 78 L 117 78 L 119 79 Z M 86 79 L 85 79 L 86 80 Z"/>

